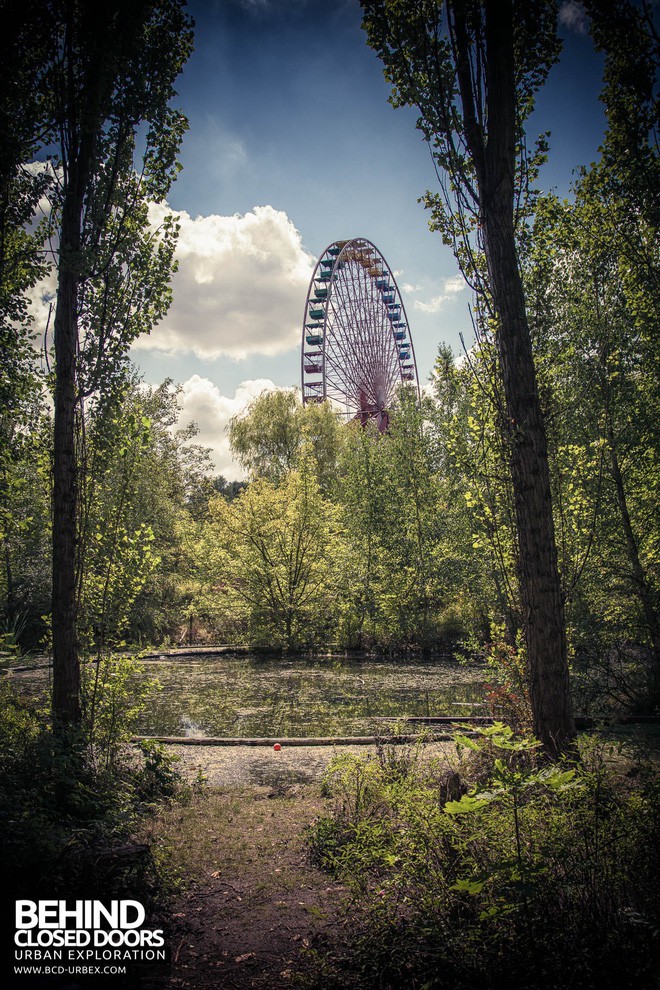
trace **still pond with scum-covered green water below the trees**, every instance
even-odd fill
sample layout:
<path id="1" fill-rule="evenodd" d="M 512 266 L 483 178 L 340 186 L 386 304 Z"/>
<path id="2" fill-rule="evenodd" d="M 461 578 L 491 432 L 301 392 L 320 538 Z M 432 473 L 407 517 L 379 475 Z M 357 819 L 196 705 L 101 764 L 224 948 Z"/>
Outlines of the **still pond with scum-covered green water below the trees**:
<path id="1" fill-rule="evenodd" d="M 451 658 L 355 660 L 191 655 L 145 661 L 161 689 L 139 727 L 167 736 L 360 736 L 377 719 L 476 715 L 484 670 Z"/>

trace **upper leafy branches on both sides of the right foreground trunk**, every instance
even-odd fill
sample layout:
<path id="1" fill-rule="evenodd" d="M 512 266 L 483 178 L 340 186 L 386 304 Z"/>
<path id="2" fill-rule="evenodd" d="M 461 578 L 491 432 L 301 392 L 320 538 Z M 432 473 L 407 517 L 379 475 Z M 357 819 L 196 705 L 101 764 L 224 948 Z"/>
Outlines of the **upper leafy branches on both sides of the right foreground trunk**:
<path id="1" fill-rule="evenodd" d="M 485 7 L 477 0 L 446 5 L 435 0 L 363 0 L 362 7 L 368 43 L 392 85 L 389 102 L 418 111 L 416 126 L 436 165 L 441 190 L 422 197 L 431 213 L 429 226 L 452 247 L 469 284 L 489 299 L 480 184 L 483 149 L 496 140 L 502 118 L 488 100 Z M 543 134 L 532 151 L 524 126 L 560 47 L 553 2 L 516 4 L 510 57 L 516 103 L 514 222 L 520 237 L 533 211 L 534 180 L 548 146 L 548 135 Z M 469 94 L 461 79 L 465 69 L 471 75 Z"/>

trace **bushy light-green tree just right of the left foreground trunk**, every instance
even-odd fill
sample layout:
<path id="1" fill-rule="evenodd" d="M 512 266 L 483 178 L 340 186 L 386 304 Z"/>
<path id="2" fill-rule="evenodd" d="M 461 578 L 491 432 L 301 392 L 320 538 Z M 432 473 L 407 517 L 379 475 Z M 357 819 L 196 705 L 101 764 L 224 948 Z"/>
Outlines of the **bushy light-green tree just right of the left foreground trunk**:
<path id="1" fill-rule="evenodd" d="M 79 635 L 101 658 L 124 638 L 174 634 L 189 606 L 184 536 L 213 492 L 196 428 L 176 428 L 180 389 L 121 393 L 88 410 L 80 507 Z"/>

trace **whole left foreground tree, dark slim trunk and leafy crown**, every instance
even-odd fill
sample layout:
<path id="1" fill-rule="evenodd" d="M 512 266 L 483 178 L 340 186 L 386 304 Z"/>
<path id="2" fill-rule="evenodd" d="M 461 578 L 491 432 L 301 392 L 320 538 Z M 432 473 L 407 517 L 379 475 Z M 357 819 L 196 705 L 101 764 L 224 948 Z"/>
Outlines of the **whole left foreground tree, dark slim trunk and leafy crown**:
<path id="1" fill-rule="evenodd" d="M 113 387 L 135 337 L 169 303 L 175 226 L 148 204 L 178 169 L 174 80 L 192 45 L 181 0 L 52 0 L 44 132 L 57 192 L 54 318 L 53 716 L 80 717 L 77 608 L 85 401 Z M 138 137 L 142 166 L 136 170 Z M 54 149 L 54 150 L 53 150 Z"/>

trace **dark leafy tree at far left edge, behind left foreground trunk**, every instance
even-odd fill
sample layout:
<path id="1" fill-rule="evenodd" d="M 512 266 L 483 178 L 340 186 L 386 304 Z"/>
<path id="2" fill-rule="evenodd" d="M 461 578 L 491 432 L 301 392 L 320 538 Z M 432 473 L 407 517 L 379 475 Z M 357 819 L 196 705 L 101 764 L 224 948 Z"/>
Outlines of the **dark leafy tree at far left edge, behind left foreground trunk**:
<path id="1" fill-rule="evenodd" d="M 29 295 L 46 271 L 45 224 L 34 217 L 50 177 L 28 163 L 39 144 L 50 15 L 34 0 L 2 2 L 0 14 L 0 622 L 8 642 L 34 646 L 35 616 L 48 610 L 50 520 L 45 383 Z"/>

